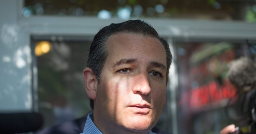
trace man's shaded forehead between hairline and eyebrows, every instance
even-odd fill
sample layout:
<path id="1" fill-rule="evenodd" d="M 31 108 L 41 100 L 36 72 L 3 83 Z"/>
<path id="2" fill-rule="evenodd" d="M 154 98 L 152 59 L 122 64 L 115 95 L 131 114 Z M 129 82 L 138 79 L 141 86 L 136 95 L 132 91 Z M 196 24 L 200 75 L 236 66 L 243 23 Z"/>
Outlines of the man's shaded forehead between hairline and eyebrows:
<path id="1" fill-rule="evenodd" d="M 156 37 L 139 34 L 118 33 L 107 40 L 107 60 L 141 59 L 156 61 L 166 65 L 166 53 L 162 43 Z"/>

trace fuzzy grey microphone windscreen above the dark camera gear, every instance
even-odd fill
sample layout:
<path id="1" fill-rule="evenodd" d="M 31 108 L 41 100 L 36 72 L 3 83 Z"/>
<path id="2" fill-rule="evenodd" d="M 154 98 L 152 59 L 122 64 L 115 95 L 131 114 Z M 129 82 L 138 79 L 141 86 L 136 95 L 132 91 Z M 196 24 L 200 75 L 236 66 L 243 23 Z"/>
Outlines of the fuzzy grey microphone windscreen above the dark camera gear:
<path id="1" fill-rule="evenodd" d="M 229 64 L 229 81 L 240 92 L 256 88 L 256 64 L 247 57 L 240 57 Z"/>

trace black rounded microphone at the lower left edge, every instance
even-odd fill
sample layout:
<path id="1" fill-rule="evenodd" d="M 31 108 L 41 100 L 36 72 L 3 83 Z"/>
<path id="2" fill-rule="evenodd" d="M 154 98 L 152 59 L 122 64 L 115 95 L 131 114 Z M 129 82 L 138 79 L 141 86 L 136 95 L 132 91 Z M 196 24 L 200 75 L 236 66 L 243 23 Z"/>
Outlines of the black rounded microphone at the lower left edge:
<path id="1" fill-rule="evenodd" d="M 36 112 L 0 113 L 0 132 L 4 134 L 37 131 L 43 125 L 43 117 Z"/>

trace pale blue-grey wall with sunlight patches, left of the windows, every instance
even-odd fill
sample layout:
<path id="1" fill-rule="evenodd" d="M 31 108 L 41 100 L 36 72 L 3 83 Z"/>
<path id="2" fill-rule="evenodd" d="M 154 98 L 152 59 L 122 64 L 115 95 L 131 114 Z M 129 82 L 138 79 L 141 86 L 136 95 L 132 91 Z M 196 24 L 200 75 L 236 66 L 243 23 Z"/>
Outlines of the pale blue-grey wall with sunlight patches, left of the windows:
<path id="1" fill-rule="evenodd" d="M 0 111 L 31 110 L 31 52 L 21 0 L 0 0 Z"/>

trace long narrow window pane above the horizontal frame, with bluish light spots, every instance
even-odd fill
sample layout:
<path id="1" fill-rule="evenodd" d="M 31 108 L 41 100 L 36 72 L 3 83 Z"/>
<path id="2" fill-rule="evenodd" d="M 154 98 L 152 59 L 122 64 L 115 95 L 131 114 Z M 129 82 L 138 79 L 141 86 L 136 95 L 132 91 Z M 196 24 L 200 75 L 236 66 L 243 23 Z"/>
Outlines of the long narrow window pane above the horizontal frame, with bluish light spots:
<path id="1" fill-rule="evenodd" d="M 25 0 L 22 14 L 119 17 L 160 17 L 256 22 L 252 0 Z"/>

